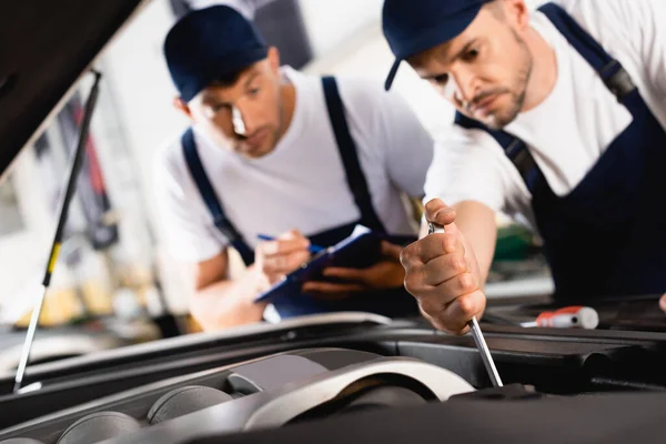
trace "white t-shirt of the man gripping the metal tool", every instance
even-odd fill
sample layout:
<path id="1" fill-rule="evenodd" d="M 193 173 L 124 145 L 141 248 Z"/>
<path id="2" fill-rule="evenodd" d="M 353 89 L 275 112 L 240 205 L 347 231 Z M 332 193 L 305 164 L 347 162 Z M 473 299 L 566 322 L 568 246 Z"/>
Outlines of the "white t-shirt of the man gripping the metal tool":
<path id="1" fill-rule="evenodd" d="M 666 128 L 666 1 L 554 2 L 619 60 Z M 555 49 L 557 81 L 544 102 L 518 114 L 505 131 L 527 144 L 553 192 L 565 195 L 627 128 L 632 115 L 545 14 L 535 11 L 531 24 Z M 437 141 L 425 189 L 425 201 L 441 198 L 450 205 L 478 201 L 536 229 L 531 193 L 485 131 L 454 125 Z"/>

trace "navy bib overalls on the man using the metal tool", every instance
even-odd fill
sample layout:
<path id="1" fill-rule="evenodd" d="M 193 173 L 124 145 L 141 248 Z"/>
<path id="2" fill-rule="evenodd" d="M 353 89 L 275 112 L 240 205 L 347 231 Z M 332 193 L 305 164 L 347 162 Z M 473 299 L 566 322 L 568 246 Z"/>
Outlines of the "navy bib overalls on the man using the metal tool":
<path id="1" fill-rule="evenodd" d="M 640 296 L 666 292 L 666 133 L 622 64 L 559 6 L 539 8 L 630 112 L 633 122 L 583 181 L 557 196 L 525 143 L 456 115 L 464 128 L 487 131 L 504 148 L 532 193 L 536 224 L 557 301 Z"/>

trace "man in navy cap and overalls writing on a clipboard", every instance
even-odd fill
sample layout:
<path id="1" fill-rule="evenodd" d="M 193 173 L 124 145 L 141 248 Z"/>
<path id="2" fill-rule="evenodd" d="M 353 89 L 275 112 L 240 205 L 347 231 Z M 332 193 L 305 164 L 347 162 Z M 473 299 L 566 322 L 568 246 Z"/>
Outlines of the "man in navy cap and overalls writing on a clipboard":
<path id="1" fill-rule="evenodd" d="M 337 311 L 418 315 L 394 236 L 416 239 L 406 198 L 423 198 L 433 140 L 410 105 L 381 82 L 281 67 L 276 49 L 226 6 L 185 16 L 164 54 L 175 105 L 192 127 L 157 157 L 157 206 L 171 253 L 192 270 L 199 323 L 214 330 Z M 384 242 L 384 260 L 329 268 L 325 282 L 302 286 L 306 294 L 254 302 L 307 261 L 310 246 L 333 245 L 356 224 L 394 241 Z M 248 265 L 242 275 L 230 268 L 231 248 Z"/>

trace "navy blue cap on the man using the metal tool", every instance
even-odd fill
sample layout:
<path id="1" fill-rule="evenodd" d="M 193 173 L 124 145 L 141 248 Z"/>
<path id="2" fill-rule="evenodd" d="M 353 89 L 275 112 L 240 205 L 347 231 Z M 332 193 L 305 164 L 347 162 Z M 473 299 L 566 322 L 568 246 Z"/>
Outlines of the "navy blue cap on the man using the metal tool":
<path id="1" fill-rule="evenodd" d="M 382 28 L 395 62 L 384 88 L 389 90 L 400 63 L 462 33 L 491 0 L 385 0 Z"/>

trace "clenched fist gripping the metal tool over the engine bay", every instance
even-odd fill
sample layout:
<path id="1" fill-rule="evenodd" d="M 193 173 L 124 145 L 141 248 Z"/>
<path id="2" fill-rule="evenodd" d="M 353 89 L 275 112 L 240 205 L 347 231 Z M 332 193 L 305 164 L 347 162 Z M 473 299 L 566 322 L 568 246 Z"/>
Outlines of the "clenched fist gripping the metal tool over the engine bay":
<path id="1" fill-rule="evenodd" d="M 480 317 L 486 303 L 476 258 L 455 225 L 454 209 L 434 199 L 425 205 L 425 219 L 445 233 L 428 234 L 403 250 L 405 289 L 436 329 L 466 333 L 467 322 Z"/>

